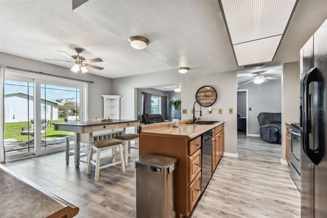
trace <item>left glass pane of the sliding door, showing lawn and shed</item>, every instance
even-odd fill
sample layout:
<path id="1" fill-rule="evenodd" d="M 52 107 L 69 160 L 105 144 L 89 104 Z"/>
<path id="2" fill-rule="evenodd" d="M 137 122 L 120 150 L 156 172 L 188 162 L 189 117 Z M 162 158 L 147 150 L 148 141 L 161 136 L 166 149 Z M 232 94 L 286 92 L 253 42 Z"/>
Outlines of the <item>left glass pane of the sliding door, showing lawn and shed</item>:
<path id="1" fill-rule="evenodd" d="M 34 154 L 34 80 L 5 79 L 5 154 Z"/>

